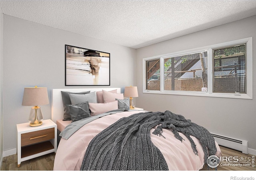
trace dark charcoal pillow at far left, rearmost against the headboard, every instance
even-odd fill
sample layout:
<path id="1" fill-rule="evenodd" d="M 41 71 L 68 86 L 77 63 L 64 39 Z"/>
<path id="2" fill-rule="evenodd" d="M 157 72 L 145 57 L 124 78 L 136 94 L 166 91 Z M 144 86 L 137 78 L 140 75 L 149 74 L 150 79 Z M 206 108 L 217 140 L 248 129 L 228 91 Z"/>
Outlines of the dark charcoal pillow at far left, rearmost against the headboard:
<path id="1" fill-rule="evenodd" d="M 70 112 L 68 109 L 68 105 L 71 104 L 70 101 L 70 97 L 68 94 L 88 94 L 90 93 L 90 91 L 86 91 L 86 92 L 67 92 L 67 91 L 62 91 L 62 102 L 63 102 L 63 106 L 64 106 L 64 121 L 69 121 L 71 120 L 71 116 L 70 116 Z"/>

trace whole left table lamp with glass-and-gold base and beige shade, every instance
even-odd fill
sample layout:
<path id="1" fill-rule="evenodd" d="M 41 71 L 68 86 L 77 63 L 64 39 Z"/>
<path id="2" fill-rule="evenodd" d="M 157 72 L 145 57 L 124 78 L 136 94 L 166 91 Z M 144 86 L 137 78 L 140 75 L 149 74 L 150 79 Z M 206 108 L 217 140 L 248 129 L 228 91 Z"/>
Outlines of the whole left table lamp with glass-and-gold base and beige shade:
<path id="1" fill-rule="evenodd" d="M 33 88 L 24 88 L 22 106 L 34 106 L 30 110 L 30 126 L 42 125 L 42 112 L 39 105 L 49 104 L 49 98 L 47 88 L 39 88 L 37 86 Z"/>

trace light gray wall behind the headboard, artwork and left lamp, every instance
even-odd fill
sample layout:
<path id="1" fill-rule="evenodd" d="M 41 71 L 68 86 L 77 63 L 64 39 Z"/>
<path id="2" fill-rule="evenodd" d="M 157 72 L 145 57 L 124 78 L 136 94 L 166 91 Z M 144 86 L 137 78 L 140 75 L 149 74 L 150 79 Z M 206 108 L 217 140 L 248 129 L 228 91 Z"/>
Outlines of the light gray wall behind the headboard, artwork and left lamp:
<path id="1" fill-rule="evenodd" d="M 29 106 L 22 106 L 24 87 L 47 87 L 50 104 L 41 106 L 44 119 L 51 118 L 53 88 L 65 86 L 65 44 L 110 53 L 110 86 L 135 85 L 136 50 L 64 30 L 4 15 L 4 133 L 3 150 L 16 148 L 16 124 L 28 122 Z M 2 138 L 1 138 L 2 139 Z M 14 152 L 16 153 L 16 152 Z"/>

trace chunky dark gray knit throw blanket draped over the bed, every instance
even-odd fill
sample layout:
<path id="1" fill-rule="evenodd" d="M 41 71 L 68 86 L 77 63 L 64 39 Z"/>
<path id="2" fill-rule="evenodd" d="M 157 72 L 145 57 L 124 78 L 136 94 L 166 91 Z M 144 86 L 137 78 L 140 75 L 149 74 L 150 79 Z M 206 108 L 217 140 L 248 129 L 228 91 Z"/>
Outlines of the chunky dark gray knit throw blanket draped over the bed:
<path id="1" fill-rule="evenodd" d="M 162 128 L 171 129 L 180 141 L 183 139 L 178 132 L 183 133 L 196 155 L 198 151 L 190 136 L 198 138 L 205 163 L 208 156 L 216 153 L 214 138 L 202 126 L 170 111 L 143 112 L 121 118 L 95 136 L 88 145 L 80 170 L 168 170 L 164 156 L 150 138 L 150 129 L 154 126 L 157 128 L 153 134 L 160 138 L 165 138 Z"/>

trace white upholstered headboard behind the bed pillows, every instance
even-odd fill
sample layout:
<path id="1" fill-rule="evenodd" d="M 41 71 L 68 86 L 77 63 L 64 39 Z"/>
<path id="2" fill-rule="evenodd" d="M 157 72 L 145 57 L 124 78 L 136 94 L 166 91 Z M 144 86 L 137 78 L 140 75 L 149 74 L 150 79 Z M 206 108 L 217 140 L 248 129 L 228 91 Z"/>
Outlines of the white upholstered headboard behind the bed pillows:
<path id="1" fill-rule="evenodd" d="M 63 119 L 64 106 L 62 102 L 61 91 L 67 92 L 95 92 L 95 91 L 111 91 L 116 90 L 117 93 L 121 92 L 121 88 L 76 88 L 76 89 L 52 89 L 52 121 L 56 123 L 57 120 Z"/>

